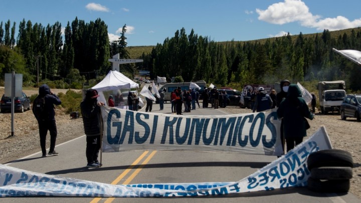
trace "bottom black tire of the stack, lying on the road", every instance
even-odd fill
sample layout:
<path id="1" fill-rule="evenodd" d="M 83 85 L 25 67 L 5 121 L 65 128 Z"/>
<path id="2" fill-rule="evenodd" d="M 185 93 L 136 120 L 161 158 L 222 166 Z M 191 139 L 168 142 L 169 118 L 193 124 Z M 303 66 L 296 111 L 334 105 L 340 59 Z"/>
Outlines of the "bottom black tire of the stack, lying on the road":
<path id="1" fill-rule="evenodd" d="M 307 188 L 315 192 L 347 192 L 350 188 L 350 180 L 318 180 L 308 178 Z"/>

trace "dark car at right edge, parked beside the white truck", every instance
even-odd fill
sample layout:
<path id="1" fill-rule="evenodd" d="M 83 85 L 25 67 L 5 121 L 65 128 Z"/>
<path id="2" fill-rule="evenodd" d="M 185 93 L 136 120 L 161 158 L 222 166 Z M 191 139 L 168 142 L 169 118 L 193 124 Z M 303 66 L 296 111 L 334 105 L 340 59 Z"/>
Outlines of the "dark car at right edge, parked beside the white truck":
<path id="1" fill-rule="evenodd" d="M 356 118 L 361 121 L 361 95 L 347 95 L 340 106 L 341 119 Z"/>

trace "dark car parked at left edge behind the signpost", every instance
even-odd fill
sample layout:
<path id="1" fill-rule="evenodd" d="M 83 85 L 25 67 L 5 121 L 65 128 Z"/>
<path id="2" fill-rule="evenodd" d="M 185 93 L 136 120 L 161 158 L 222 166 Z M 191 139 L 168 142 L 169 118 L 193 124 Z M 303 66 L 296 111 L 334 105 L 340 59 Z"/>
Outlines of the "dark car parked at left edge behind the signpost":
<path id="1" fill-rule="evenodd" d="M 31 109 L 31 102 L 30 97 L 28 97 L 23 92 L 23 96 L 14 98 L 14 110 L 23 113 L 25 109 Z M 11 97 L 6 97 L 3 95 L 2 99 L 0 100 L 0 111 L 11 111 Z"/>

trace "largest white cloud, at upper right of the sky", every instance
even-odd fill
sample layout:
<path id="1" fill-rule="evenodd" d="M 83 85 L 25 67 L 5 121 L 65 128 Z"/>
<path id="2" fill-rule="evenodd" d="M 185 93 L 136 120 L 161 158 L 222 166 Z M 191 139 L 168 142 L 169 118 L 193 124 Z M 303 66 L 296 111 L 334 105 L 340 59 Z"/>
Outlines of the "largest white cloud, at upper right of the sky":
<path id="1" fill-rule="evenodd" d="M 277 25 L 299 22 L 304 27 L 316 28 L 317 30 L 328 29 L 333 31 L 355 28 L 361 25 L 361 19 L 349 21 L 342 16 L 321 19 L 320 16 L 311 14 L 305 3 L 300 0 L 284 0 L 284 2 L 269 6 L 266 10 L 256 9 L 256 12 L 260 21 Z"/>

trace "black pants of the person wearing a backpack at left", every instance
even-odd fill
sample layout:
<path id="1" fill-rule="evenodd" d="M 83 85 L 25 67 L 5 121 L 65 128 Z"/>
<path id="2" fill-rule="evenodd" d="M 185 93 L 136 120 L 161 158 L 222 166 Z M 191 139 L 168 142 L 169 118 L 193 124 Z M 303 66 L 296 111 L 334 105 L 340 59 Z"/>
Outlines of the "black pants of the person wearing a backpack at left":
<path id="1" fill-rule="evenodd" d="M 42 152 L 44 155 L 46 154 L 46 136 L 48 134 L 48 130 L 50 133 L 49 151 L 54 151 L 58 131 L 56 128 L 55 120 L 41 120 L 38 121 L 38 124 L 39 124 L 39 135 L 40 135 L 40 147 L 42 148 Z"/>

